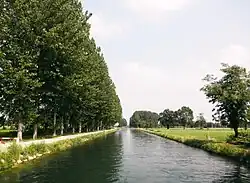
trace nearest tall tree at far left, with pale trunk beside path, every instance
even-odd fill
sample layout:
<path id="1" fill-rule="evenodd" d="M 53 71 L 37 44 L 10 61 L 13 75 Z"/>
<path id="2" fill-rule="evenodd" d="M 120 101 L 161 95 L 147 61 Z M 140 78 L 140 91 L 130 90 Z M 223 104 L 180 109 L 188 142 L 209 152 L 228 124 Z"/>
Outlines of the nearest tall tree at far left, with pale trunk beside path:
<path id="1" fill-rule="evenodd" d="M 18 139 L 22 140 L 23 123 L 36 113 L 36 90 L 41 86 L 37 77 L 37 48 L 33 43 L 32 27 L 22 1 L 1 3 L 5 29 L 1 31 L 2 111 L 18 125 Z"/>

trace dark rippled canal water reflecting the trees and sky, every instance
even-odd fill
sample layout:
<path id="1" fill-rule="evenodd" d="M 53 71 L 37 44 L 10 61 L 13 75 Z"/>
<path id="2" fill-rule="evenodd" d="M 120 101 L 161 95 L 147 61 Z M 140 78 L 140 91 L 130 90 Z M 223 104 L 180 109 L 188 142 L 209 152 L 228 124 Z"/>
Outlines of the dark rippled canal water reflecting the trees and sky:
<path id="1" fill-rule="evenodd" d="M 0 183 L 249 183 L 250 171 L 154 135 L 123 129 L 0 175 Z"/>

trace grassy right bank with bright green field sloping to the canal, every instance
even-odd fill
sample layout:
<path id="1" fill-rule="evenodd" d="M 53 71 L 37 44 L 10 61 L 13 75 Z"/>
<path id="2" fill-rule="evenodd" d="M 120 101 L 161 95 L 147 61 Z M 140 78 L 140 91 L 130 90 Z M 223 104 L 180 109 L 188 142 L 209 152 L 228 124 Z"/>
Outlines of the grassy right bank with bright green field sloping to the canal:
<path id="1" fill-rule="evenodd" d="M 250 149 L 246 145 L 230 143 L 232 132 L 228 130 L 192 130 L 192 129 L 141 129 L 170 140 L 218 155 L 230 157 L 250 166 Z M 237 141 L 234 140 L 234 141 Z"/>

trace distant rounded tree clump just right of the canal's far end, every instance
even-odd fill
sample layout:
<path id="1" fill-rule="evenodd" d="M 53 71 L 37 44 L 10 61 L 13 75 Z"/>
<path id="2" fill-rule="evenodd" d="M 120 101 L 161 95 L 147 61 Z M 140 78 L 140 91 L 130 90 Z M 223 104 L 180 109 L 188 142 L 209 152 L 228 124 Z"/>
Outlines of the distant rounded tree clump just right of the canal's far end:
<path id="1" fill-rule="evenodd" d="M 158 126 L 159 115 L 151 111 L 135 111 L 130 118 L 130 127 L 154 128 Z"/>

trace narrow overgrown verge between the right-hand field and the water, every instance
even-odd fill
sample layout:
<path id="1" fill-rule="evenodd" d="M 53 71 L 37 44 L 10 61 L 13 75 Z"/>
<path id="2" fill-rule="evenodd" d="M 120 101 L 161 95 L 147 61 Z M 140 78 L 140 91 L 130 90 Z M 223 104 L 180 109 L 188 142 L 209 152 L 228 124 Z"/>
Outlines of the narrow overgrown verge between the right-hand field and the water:
<path id="1" fill-rule="evenodd" d="M 139 129 L 140 131 L 154 134 L 169 140 L 173 140 L 185 145 L 205 150 L 209 153 L 214 153 L 220 156 L 231 158 L 250 167 L 250 151 L 249 148 L 242 148 L 237 145 L 229 144 L 226 142 L 217 142 L 211 140 L 201 140 L 193 137 L 175 136 L 167 132 L 152 130 L 152 129 Z"/>

